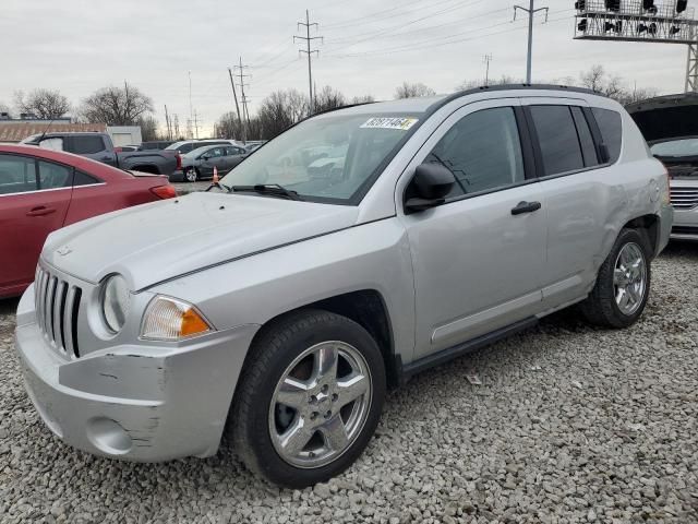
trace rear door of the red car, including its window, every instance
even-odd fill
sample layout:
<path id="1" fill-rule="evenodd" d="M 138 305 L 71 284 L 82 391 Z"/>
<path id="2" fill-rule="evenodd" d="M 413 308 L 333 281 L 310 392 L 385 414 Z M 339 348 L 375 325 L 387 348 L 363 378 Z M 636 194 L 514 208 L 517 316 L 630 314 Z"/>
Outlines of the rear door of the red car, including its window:
<path id="1" fill-rule="evenodd" d="M 0 154 L 0 295 L 34 281 L 46 237 L 63 226 L 72 176 L 71 167 Z"/>

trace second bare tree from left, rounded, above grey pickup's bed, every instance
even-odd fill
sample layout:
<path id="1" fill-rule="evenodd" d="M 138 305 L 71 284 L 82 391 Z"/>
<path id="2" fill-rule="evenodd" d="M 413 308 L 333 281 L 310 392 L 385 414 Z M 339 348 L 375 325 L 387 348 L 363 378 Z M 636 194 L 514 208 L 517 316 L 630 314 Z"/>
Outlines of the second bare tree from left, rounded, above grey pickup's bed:
<path id="1" fill-rule="evenodd" d="M 137 87 L 109 86 L 96 91 L 83 100 L 81 116 L 89 123 L 134 126 L 139 117 L 153 111 L 153 100 Z"/>

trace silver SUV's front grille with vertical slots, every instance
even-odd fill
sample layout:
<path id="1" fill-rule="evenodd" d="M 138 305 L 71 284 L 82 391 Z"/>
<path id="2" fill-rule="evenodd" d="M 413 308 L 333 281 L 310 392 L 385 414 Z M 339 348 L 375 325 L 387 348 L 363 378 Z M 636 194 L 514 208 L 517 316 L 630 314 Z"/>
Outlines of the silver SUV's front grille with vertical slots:
<path id="1" fill-rule="evenodd" d="M 80 357 L 77 312 L 82 289 L 39 267 L 34 298 L 36 320 L 49 344 L 69 357 Z"/>

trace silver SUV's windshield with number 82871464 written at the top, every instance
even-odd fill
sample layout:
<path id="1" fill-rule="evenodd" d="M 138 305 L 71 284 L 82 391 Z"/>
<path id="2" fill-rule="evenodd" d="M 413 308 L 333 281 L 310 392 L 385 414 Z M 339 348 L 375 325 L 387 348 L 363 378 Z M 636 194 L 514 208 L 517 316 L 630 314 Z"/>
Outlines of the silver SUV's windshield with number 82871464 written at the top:
<path id="1" fill-rule="evenodd" d="M 302 200 L 356 203 L 407 140 L 419 115 L 312 118 L 280 134 L 220 181 L 278 184 Z"/>

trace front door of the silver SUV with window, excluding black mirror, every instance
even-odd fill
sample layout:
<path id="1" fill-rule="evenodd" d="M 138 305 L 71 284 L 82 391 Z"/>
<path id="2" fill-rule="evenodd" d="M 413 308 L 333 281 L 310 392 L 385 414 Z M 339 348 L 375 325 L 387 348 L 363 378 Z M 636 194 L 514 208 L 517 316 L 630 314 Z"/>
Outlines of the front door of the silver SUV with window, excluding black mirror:
<path id="1" fill-rule="evenodd" d="M 445 204 L 402 216 L 414 271 L 416 358 L 540 312 L 546 223 L 522 124 L 515 99 L 466 106 L 406 171 L 438 163 L 456 179 Z"/>

